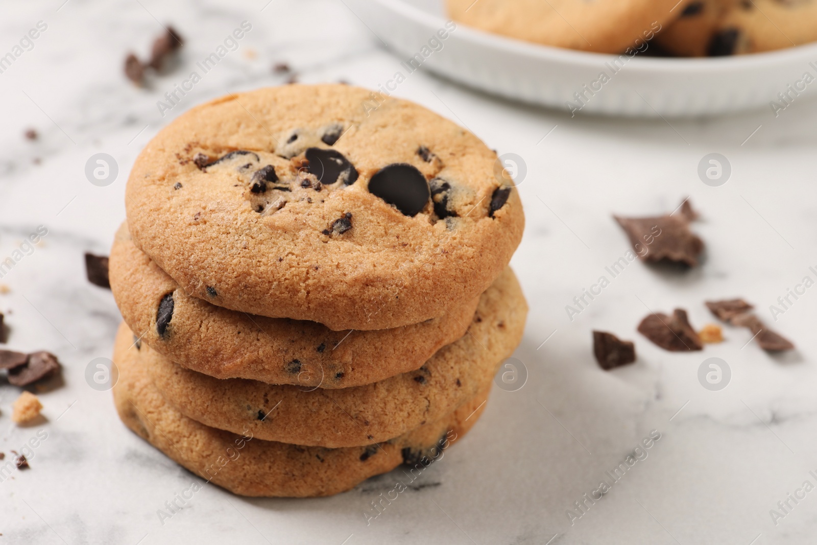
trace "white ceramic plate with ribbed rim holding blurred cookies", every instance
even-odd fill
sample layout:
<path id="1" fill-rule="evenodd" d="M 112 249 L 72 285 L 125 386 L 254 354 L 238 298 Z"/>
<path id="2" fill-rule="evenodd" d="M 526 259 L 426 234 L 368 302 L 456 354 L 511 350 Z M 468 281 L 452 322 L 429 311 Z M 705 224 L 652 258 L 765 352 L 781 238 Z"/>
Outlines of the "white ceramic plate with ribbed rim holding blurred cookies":
<path id="1" fill-rule="evenodd" d="M 772 110 L 772 101 L 786 106 L 779 93 L 797 101 L 817 92 L 817 81 L 803 80 L 806 72 L 817 78 L 817 44 L 704 59 L 635 56 L 614 65 L 616 56 L 540 46 L 465 25 L 439 40 L 437 32 L 447 22 L 444 0 L 344 2 L 403 60 L 419 54 L 422 68 L 445 78 L 574 114 L 691 117 Z M 429 45 L 434 38 L 442 46 L 436 46 L 439 51 Z M 611 69 L 621 65 L 616 72 Z M 609 78 L 604 84 L 598 83 L 602 73 Z M 405 67 L 403 74 L 408 75 Z M 577 101 L 577 92 L 583 93 L 583 101 Z"/>

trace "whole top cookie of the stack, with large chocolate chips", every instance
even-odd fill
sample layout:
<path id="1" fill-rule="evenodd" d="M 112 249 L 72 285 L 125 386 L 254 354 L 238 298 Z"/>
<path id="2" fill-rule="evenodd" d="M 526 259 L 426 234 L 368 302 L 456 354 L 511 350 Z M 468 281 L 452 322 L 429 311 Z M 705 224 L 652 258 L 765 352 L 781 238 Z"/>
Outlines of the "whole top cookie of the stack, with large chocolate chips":
<path id="1" fill-rule="evenodd" d="M 267 88 L 159 132 L 132 169 L 127 220 L 136 245 L 208 302 L 395 328 L 471 300 L 510 261 L 525 219 L 495 164 L 476 136 L 411 102 Z"/>

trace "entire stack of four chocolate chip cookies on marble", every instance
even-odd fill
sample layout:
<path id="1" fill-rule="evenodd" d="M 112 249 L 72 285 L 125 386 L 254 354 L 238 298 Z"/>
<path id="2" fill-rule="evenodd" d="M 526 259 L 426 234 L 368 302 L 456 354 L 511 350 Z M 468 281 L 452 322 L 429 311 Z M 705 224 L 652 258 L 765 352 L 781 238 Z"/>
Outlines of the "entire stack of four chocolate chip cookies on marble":
<path id="1" fill-rule="evenodd" d="M 497 163 L 446 119 L 345 85 L 181 115 L 136 160 L 110 255 L 123 422 L 248 496 L 439 458 L 525 324 L 507 266 L 525 220 Z"/>

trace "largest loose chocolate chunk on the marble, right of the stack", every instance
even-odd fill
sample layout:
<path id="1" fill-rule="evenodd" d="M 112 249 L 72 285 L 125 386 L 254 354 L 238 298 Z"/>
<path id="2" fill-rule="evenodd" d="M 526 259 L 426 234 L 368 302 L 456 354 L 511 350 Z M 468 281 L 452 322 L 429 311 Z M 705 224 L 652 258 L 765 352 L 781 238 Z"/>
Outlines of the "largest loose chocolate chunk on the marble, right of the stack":
<path id="1" fill-rule="evenodd" d="M 685 217 L 614 216 L 630 239 L 633 250 L 644 261 L 671 261 L 694 267 L 703 252 L 703 240 L 690 231 Z"/>

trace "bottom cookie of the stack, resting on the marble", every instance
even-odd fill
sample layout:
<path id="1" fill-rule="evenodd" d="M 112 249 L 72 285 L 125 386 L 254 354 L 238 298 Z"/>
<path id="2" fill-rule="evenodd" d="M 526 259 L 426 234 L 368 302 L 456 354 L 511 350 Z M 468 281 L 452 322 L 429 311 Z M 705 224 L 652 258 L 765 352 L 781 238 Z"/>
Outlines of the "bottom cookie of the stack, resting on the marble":
<path id="1" fill-rule="evenodd" d="M 119 378 L 114 403 L 137 435 L 195 475 L 243 496 L 305 498 L 351 489 L 368 477 L 408 463 L 422 471 L 461 438 L 484 410 L 489 388 L 437 422 L 380 444 L 346 449 L 302 447 L 207 427 L 173 409 L 138 364 L 127 331 L 114 347 Z M 490 384 L 489 384 L 490 386 Z"/>

